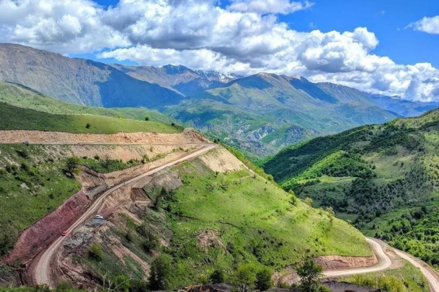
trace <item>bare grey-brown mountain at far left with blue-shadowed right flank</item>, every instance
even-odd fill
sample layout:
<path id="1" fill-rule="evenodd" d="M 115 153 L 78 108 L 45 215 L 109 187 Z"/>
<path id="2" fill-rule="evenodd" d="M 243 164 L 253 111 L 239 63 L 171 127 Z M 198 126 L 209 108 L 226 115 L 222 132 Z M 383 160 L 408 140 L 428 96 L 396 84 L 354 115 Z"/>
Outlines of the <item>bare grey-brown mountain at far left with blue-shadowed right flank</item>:
<path id="1" fill-rule="evenodd" d="M 103 63 L 16 44 L 0 44 L 0 80 L 64 101 L 107 108 L 158 108 L 178 103 L 183 97 Z"/>

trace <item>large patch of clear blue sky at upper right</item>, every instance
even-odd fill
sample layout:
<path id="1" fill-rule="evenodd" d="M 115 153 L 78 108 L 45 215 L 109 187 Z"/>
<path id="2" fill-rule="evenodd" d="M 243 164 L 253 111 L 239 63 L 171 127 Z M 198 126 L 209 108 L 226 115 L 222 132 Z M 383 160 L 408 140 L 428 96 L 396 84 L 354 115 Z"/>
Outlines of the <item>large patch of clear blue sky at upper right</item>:
<path id="1" fill-rule="evenodd" d="M 439 35 L 405 29 L 420 18 L 439 15 L 439 1 L 316 0 L 315 3 L 309 10 L 279 19 L 300 31 L 309 31 L 310 23 L 325 32 L 365 26 L 379 39 L 376 54 L 388 55 L 401 64 L 430 62 L 439 67 Z"/>

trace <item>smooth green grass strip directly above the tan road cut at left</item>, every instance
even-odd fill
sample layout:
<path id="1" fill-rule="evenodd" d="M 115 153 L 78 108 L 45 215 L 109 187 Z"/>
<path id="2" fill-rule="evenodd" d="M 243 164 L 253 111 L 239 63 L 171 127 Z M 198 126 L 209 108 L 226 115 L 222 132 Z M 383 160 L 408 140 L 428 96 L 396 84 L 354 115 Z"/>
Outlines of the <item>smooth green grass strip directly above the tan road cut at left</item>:
<path id="1" fill-rule="evenodd" d="M 0 103 L 0 129 L 3 130 L 45 130 L 71 133 L 112 134 L 117 132 L 160 132 L 178 133 L 180 127 L 160 122 L 146 122 L 131 119 L 111 118 L 99 115 L 58 115 L 28 110 Z M 26 117 L 23 119 L 23 117 Z M 90 128 L 86 128 L 87 123 Z"/>

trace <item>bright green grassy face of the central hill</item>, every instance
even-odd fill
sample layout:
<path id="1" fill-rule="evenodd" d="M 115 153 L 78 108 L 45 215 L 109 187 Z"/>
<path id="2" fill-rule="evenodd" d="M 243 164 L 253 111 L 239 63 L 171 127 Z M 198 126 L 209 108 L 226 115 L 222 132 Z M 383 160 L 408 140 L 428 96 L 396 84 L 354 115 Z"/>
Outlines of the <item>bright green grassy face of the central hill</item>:
<path id="1" fill-rule="evenodd" d="M 301 201 L 293 205 L 291 194 L 247 170 L 217 174 L 194 159 L 167 172 L 178 172 L 183 185 L 162 201 L 159 210 L 150 205 L 136 213 L 143 215 L 144 224 L 152 226 L 157 235 L 169 240 L 161 253 L 172 258 L 169 280 L 173 289 L 197 283 L 216 268 L 232 275 L 244 262 L 282 271 L 308 255 L 371 253 L 359 231 L 338 219 L 331 223 L 326 212 Z M 157 185 L 157 189 L 147 191 L 152 201 L 160 189 Z M 105 236 L 119 237 L 124 246 L 150 262 L 151 254 L 142 249 L 145 238 L 136 232 L 136 224 L 128 217 L 117 220 L 124 226 L 111 228 Z M 132 231 L 130 240 L 127 230 Z M 214 240 L 210 247 L 200 247 L 197 236 L 204 230 L 216 234 L 220 243 Z M 88 257 L 76 260 L 96 274 L 142 277 L 130 261 L 122 263 L 111 248 L 104 245 L 103 249 L 105 256 L 100 262 Z"/>

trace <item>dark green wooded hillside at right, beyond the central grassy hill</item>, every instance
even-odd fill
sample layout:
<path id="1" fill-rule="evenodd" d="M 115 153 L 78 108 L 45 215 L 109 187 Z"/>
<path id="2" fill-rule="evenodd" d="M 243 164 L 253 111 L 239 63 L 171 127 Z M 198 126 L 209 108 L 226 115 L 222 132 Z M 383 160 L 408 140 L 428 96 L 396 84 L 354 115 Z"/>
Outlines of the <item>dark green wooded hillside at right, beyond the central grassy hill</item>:
<path id="1" fill-rule="evenodd" d="M 263 167 L 315 206 L 439 264 L 439 110 L 290 146 Z"/>

